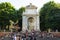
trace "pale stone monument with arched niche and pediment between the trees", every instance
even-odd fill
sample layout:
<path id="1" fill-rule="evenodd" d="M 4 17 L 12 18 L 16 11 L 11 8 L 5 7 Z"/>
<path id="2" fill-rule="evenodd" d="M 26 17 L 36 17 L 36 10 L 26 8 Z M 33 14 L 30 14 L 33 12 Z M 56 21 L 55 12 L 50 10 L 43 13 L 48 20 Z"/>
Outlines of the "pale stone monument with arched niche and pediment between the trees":
<path id="1" fill-rule="evenodd" d="M 26 30 L 40 30 L 39 13 L 37 7 L 31 3 L 25 7 L 25 12 L 22 14 L 22 31 Z"/>

